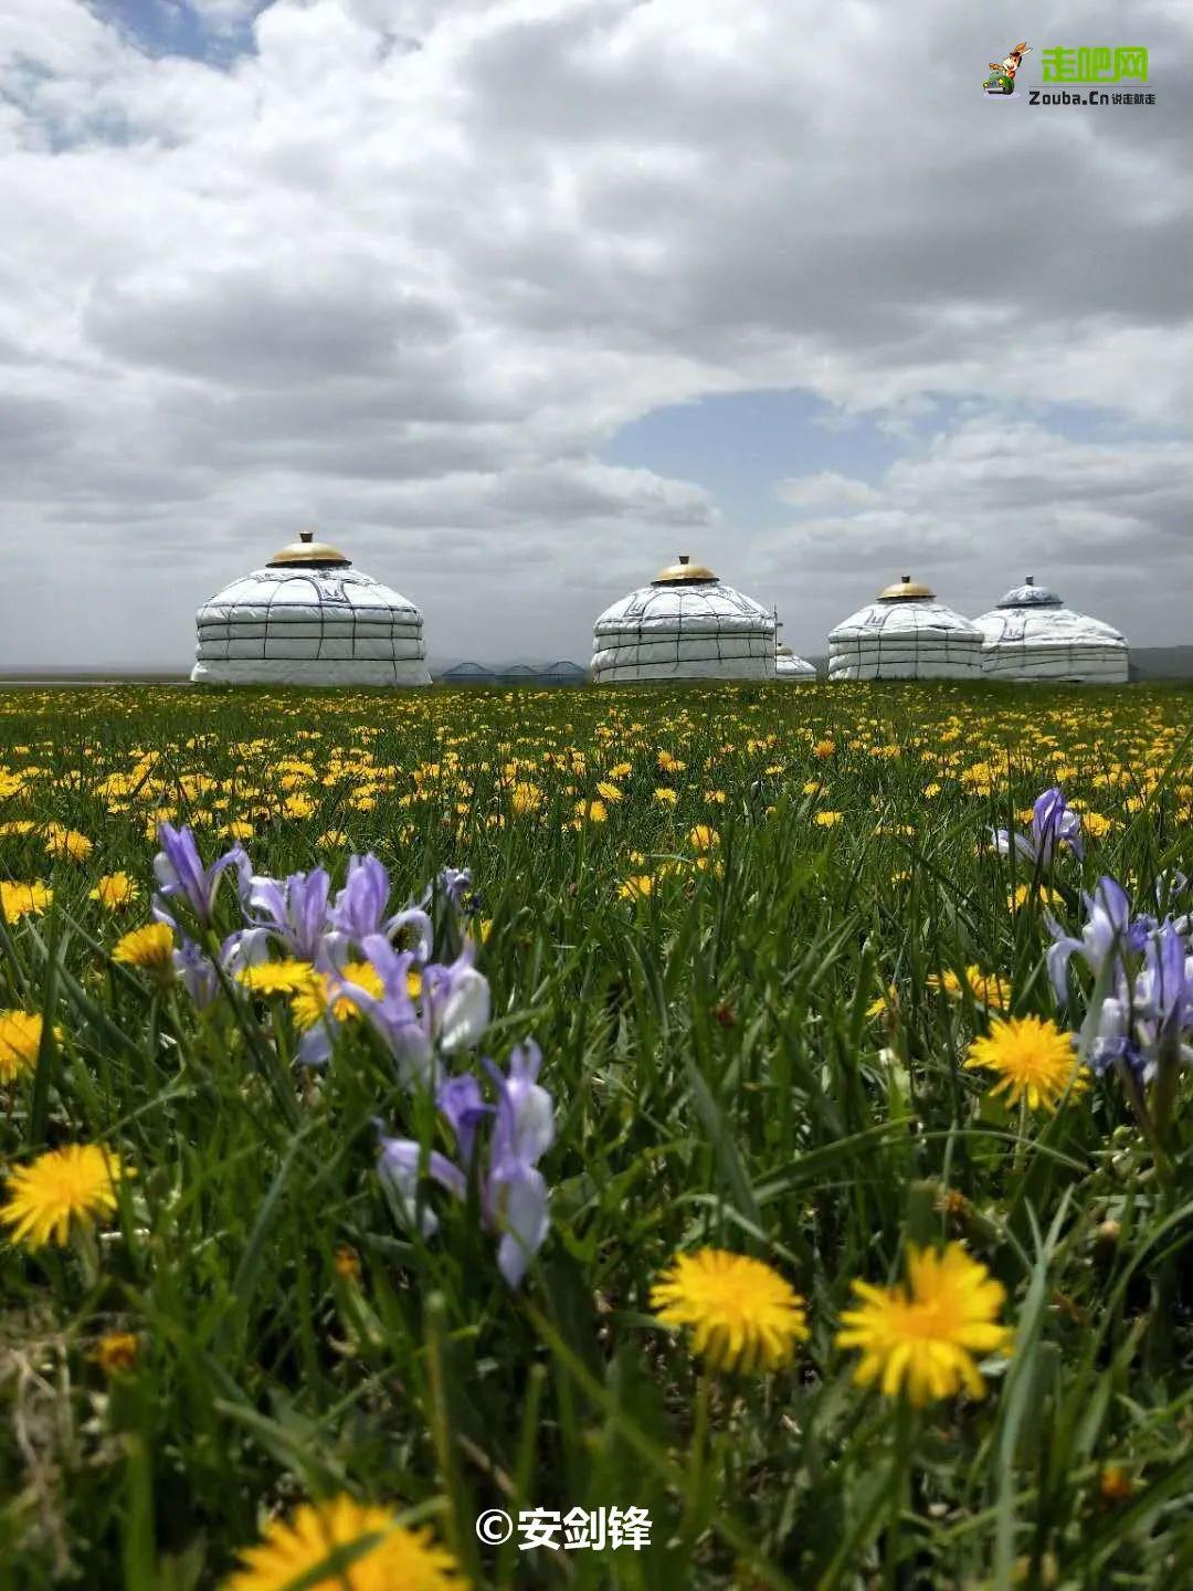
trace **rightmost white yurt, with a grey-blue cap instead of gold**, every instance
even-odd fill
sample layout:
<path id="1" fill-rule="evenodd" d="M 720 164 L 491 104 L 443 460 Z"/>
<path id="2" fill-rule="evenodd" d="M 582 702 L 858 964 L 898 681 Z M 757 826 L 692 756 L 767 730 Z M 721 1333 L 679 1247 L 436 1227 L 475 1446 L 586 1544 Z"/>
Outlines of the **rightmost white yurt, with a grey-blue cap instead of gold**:
<path id="1" fill-rule="evenodd" d="M 1028 576 L 997 608 L 973 624 L 981 630 L 981 667 L 989 679 L 1077 679 L 1125 684 L 1131 654 L 1126 636 L 1101 619 L 1066 608 Z"/>

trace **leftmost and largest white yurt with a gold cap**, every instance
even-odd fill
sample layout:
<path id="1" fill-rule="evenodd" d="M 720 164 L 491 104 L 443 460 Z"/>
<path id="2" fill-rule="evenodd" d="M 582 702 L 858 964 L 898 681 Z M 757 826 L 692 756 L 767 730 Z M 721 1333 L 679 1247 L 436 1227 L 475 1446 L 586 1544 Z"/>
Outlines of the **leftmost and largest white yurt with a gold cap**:
<path id="1" fill-rule="evenodd" d="M 196 614 L 196 684 L 426 686 L 423 616 L 304 531 Z"/>

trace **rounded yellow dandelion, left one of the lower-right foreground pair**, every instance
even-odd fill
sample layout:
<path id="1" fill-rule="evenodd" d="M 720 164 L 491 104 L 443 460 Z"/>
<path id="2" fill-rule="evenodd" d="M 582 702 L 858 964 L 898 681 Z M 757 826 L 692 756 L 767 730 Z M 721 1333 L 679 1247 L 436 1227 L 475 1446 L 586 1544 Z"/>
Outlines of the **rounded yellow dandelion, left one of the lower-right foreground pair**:
<path id="1" fill-rule="evenodd" d="M 663 1325 L 692 1328 L 711 1370 L 776 1370 L 808 1336 L 803 1300 L 779 1273 L 724 1249 L 678 1255 L 651 1303 Z"/>

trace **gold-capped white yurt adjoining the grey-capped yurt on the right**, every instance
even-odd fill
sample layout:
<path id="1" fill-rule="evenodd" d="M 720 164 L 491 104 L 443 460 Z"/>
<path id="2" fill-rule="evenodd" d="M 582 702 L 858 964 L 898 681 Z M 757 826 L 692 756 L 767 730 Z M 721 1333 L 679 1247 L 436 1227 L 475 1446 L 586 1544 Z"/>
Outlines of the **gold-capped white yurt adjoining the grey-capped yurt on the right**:
<path id="1" fill-rule="evenodd" d="M 830 679 L 977 679 L 981 632 L 905 574 L 829 635 Z"/>

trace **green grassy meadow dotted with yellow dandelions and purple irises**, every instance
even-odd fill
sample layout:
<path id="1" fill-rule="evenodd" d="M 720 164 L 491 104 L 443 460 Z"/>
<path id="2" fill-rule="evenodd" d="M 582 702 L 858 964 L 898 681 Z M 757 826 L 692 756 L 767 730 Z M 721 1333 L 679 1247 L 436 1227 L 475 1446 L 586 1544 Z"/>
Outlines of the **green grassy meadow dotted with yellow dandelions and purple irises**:
<path id="1" fill-rule="evenodd" d="M 1193 910 L 1193 690 L 129 687 L 0 725 L 3 1591 L 1193 1583 L 1193 988 L 1094 1074 L 1156 931 L 1066 1006 L 1045 963 L 1104 875 Z M 999 854 L 1055 786 L 1083 858 Z M 348 934 L 358 998 L 321 916 L 229 947 L 243 867 L 129 940 L 161 823 L 332 899 L 372 853 L 382 916 L 471 880 L 396 993 Z M 1071 1056 L 1034 1104 L 993 1093 L 1012 1018 Z M 482 1064 L 531 1039 L 536 1085 Z M 49 1230 L 65 1146 L 102 1176 Z M 662 1321 L 703 1249 L 767 1270 Z M 988 1328 L 932 1359 L 937 1249 Z M 277 1524 L 240 1558 L 312 1500 L 305 1558 Z M 533 1508 L 649 1543 L 479 1540 Z"/>

